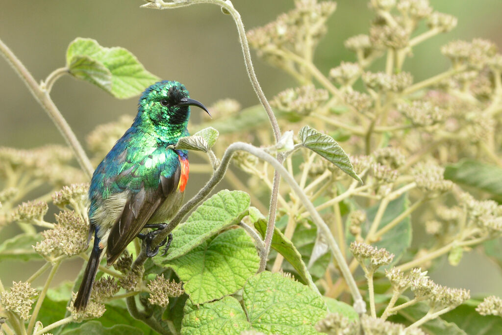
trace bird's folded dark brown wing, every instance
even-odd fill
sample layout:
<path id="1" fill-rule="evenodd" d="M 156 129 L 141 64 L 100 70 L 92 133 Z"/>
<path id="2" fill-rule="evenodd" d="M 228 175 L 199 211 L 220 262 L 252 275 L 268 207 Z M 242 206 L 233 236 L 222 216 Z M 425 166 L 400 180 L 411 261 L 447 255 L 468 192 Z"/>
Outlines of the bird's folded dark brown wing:
<path id="1" fill-rule="evenodd" d="M 159 206 L 176 191 L 180 176 L 181 165 L 178 165 L 170 177 L 160 176 L 157 189 L 145 190 L 142 187 L 139 192 L 129 198 L 108 236 L 106 251 L 108 265 L 115 262 L 131 241 L 138 236 Z"/>

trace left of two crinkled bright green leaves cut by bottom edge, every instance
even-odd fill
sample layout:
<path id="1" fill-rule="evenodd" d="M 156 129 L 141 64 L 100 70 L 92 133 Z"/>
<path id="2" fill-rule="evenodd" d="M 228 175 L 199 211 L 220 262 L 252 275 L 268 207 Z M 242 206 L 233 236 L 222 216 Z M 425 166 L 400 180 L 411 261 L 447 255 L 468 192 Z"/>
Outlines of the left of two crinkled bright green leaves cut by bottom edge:
<path id="1" fill-rule="evenodd" d="M 201 306 L 193 305 L 187 300 L 184 312 L 181 331 L 183 335 L 239 335 L 241 331 L 251 329 L 246 314 L 234 297 L 224 297 Z"/>

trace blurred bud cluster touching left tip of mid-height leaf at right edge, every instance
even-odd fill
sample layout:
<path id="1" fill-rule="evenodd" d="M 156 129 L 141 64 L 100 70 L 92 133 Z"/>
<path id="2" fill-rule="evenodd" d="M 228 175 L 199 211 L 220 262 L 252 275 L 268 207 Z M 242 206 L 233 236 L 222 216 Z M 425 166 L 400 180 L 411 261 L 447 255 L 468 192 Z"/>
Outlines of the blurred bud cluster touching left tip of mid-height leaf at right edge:
<path id="1" fill-rule="evenodd" d="M 424 192 L 444 193 L 449 191 L 453 187 L 453 182 L 445 180 L 443 174 L 444 168 L 432 162 L 418 163 L 412 169 L 417 186 Z"/>

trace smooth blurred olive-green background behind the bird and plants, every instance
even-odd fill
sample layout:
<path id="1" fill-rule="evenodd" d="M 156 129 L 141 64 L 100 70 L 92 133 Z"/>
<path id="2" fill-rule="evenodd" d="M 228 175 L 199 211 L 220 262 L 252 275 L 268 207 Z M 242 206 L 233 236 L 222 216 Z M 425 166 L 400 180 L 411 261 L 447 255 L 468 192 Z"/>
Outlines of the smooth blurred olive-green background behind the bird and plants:
<path id="1" fill-rule="evenodd" d="M 233 21 L 213 5 L 171 11 L 140 9 L 141 1 L 16 1 L 2 0 L 0 38 L 13 50 L 38 80 L 64 66 L 67 45 L 76 37 L 96 39 L 106 47 L 130 50 L 145 67 L 163 79 L 179 80 L 191 96 L 206 105 L 231 97 L 249 106 L 258 103 L 247 80 Z M 294 7 L 289 0 L 233 0 L 247 29 L 262 26 Z M 405 70 L 415 80 L 434 75 L 449 66 L 439 47 L 454 39 L 486 38 L 502 48 L 502 1 L 431 0 L 439 12 L 458 18 L 452 32 L 433 38 L 414 50 Z M 372 18 L 366 0 L 338 2 L 328 21 L 315 63 L 323 73 L 354 55 L 343 41 L 367 33 Z M 258 78 L 269 98 L 295 85 L 283 72 L 254 56 Z M 377 64 L 378 65 L 378 64 Z M 87 83 L 63 77 L 51 96 L 77 137 L 84 141 L 98 124 L 136 114 L 136 98 L 117 100 Z M 7 62 L 0 60 L 0 146 L 32 148 L 64 143 L 55 126 L 31 96 Z M 194 121 L 200 118 L 194 114 Z M 193 122 L 193 121 L 192 121 Z M 196 188 L 196 187 L 195 187 Z M 7 232 L 5 230 L 4 232 Z M 4 240 L 0 237 L 0 240 Z M 73 280 L 81 262 L 68 262 L 60 278 Z M 39 266 L 34 264 L 34 269 Z M 458 267 L 446 262 L 432 273 L 438 283 L 471 289 L 473 294 L 502 295 L 502 275 L 482 254 L 465 256 Z M 27 268 L 12 262 L 0 263 L 4 283 L 25 280 Z M 30 272 L 32 270 L 30 269 Z"/>

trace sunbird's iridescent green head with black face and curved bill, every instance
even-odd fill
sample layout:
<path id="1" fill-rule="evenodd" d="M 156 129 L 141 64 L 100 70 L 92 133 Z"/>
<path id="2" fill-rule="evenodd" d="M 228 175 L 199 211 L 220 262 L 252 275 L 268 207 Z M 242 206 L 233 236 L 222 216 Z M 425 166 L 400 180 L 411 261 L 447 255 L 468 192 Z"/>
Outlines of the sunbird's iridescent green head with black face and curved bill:
<path id="1" fill-rule="evenodd" d="M 140 98 L 140 127 L 153 127 L 159 137 L 180 137 L 190 118 L 190 106 L 207 108 L 191 99 L 185 85 L 163 80 L 148 87 Z M 209 114 L 210 115 L 210 114 Z"/>

